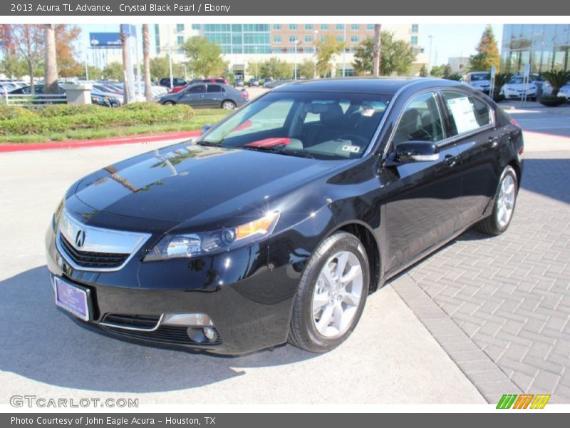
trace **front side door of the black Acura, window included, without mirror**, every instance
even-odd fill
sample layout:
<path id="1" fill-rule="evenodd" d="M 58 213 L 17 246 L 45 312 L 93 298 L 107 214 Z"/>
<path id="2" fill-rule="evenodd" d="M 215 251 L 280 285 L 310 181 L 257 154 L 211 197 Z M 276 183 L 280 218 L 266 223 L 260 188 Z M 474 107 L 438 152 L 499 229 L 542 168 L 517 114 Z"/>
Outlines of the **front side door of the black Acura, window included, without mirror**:
<path id="1" fill-rule="evenodd" d="M 395 126 L 388 153 L 407 141 L 431 141 L 439 154 L 435 161 L 385 162 L 380 169 L 380 185 L 387 195 L 383 228 L 387 271 L 409 263 L 457 230 L 456 203 L 461 193 L 455 170 L 457 148 L 445 137 L 435 92 L 414 96 Z"/>

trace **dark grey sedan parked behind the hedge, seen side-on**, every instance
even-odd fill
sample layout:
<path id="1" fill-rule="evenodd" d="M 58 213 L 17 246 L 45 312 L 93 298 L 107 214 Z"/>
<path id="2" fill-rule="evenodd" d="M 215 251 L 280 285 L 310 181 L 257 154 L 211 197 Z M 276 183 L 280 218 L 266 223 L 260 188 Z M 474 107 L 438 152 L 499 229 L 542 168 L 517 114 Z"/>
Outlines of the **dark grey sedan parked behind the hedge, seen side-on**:
<path id="1" fill-rule="evenodd" d="M 192 108 L 225 108 L 233 110 L 249 101 L 247 91 L 238 91 L 224 83 L 194 83 L 183 91 L 168 93 L 159 99 L 165 105 L 187 104 Z"/>

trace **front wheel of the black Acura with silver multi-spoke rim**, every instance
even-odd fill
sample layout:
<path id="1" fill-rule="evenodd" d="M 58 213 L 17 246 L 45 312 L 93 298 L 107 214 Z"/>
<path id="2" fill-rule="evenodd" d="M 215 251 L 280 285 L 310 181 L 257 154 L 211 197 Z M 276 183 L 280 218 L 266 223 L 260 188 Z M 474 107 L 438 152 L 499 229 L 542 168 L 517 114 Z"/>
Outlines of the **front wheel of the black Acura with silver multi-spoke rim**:
<path id="1" fill-rule="evenodd" d="M 350 282 L 336 280 L 339 262 L 343 260 L 341 277 L 351 278 Z M 350 272 L 353 273 L 349 276 Z M 346 232 L 326 238 L 311 255 L 301 277 L 291 315 L 289 343 L 309 352 L 333 350 L 358 324 L 369 287 L 370 268 L 361 241 Z"/>

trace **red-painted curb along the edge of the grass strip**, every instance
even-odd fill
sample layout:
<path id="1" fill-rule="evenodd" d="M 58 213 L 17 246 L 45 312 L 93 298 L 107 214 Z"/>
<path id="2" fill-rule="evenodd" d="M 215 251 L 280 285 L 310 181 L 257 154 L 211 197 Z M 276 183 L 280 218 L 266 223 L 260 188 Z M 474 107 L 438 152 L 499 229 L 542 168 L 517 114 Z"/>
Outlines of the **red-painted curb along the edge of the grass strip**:
<path id="1" fill-rule="evenodd" d="M 152 134 L 144 136 L 127 136 L 118 138 L 100 138 L 98 140 L 69 140 L 48 141 L 46 143 L 0 143 L 0 153 L 15 151 L 51 150 L 58 148 L 83 148 L 113 146 L 118 144 L 152 143 L 153 141 L 177 140 L 180 138 L 192 138 L 200 135 L 200 131 L 183 131 L 173 133 Z"/>

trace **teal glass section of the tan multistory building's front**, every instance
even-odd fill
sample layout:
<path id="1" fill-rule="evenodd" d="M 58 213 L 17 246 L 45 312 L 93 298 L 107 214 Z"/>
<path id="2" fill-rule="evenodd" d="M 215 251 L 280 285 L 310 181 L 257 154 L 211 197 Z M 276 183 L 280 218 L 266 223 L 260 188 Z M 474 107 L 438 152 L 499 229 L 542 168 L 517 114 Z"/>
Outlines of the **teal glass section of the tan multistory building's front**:
<path id="1" fill-rule="evenodd" d="M 271 54 L 269 24 L 203 24 L 202 36 L 224 54 Z"/>

